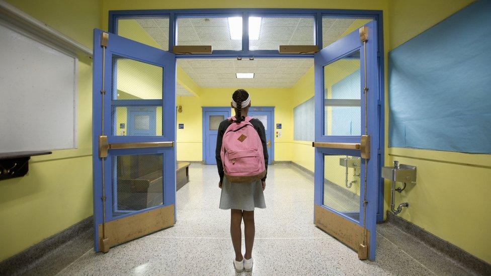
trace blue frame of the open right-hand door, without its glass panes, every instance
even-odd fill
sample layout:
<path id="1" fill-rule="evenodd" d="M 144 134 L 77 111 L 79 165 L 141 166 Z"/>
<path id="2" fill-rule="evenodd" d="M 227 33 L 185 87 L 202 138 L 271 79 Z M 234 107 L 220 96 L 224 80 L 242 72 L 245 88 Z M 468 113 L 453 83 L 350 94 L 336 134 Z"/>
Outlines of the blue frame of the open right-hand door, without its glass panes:
<path id="1" fill-rule="evenodd" d="M 370 22 L 365 26 L 368 27 L 368 42 L 366 49 L 366 75 L 367 75 L 367 87 L 368 98 L 367 98 L 367 122 L 368 122 L 368 135 L 371 138 L 370 152 L 371 156 L 367 162 L 367 190 L 366 199 L 368 204 L 366 206 L 366 213 L 363 212 L 363 183 L 360 183 L 360 210 L 359 210 L 359 220 L 353 219 L 346 213 L 338 212 L 337 210 L 327 207 L 323 204 L 323 190 L 324 190 L 324 156 L 326 155 L 350 155 L 360 157 L 360 150 L 345 150 L 336 148 L 325 148 L 316 147 L 315 148 L 315 175 L 314 175 L 314 204 L 322 210 L 327 210 L 331 214 L 334 214 L 345 221 L 353 224 L 357 224 L 361 227 L 366 222 L 366 228 L 370 233 L 369 238 L 369 252 L 368 258 L 370 260 L 375 259 L 375 248 L 376 248 L 376 222 L 377 222 L 377 211 L 379 207 L 379 185 L 380 185 L 380 164 L 381 164 L 381 150 L 383 144 L 380 143 L 382 140 L 380 131 L 380 121 L 382 120 L 380 114 L 383 113 L 381 110 L 380 101 L 381 94 L 379 93 L 379 71 L 377 70 L 377 55 L 376 55 L 376 42 L 377 42 L 377 32 L 376 24 Z M 315 54 L 314 58 L 314 75 L 315 75 L 315 141 L 316 142 L 330 142 L 330 143 L 360 143 L 360 136 L 328 136 L 324 135 L 324 66 L 331 64 L 341 58 L 347 57 L 352 53 L 360 51 L 360 106 L 361 106 L 361 133 L 364 134 L 365 129 L 365 114 L 364 114 L 364 51 L 363 44 L 360 41 L 359 31 L 347 35 L 346 37 L 338 40 L 332 45 L 322 49 L 320 52 Z M 364 163 L 365 159 L 361 159 L 361 163 Z M 361 166 L 361 174 L 364 175 L 365 167 Z M 361 177 L 363 179 L 363 177 Z M 363 181 L 361 181 L 363 182 Z M 383 200 L 383 198 L 382 198 Z M 366 214 L 366 216 L 365 216 Z M 356 248 L 354 248 L 356 249 Z"/>

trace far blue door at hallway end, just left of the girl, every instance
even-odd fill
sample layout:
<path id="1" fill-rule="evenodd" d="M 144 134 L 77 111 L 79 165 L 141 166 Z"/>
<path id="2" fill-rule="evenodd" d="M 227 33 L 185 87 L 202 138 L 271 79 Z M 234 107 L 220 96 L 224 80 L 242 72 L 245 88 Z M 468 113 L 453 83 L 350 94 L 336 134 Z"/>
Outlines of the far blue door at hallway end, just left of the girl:
<path id="1" fill-rule="evenodd" d="M 230 117 L 229 107 L 203 107 L 203 159 L 207 165 L 216 165 L 215 149 L 218 126 Z"/>

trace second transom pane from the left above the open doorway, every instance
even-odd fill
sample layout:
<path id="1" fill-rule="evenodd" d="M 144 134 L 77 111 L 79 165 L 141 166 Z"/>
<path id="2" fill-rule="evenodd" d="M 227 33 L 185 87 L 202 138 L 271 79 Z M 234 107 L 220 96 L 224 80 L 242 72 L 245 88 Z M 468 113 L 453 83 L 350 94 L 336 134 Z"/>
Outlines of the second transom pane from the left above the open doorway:
<path id="1" fill-rule="evenodd" d="M 180 17 L 176 45 L 211 45 L 213 50 L 242 49 L 242 17 Z"/>

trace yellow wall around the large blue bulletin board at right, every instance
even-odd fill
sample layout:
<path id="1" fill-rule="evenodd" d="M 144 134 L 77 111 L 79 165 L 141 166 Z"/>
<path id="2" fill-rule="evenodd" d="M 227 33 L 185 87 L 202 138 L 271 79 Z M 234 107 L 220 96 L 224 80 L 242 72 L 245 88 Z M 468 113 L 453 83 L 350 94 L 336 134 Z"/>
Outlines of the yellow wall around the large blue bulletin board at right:
<path id="1" fill-rule="evenodd" d="M 390 1 L 390 49 L 471 2 Z M 386 118 L 387 130 L 390 114 Z M 386 148 L 386 153 L 387 165 L 397 160 L 418 168 L 417 184 L 408 185 L 401 194 L 396 193 L 396 203 L 410 203 L 410 207 L 399 216 L 491 263 L 491 216 L 488 212 L 491 209 L 491 155 L 403 148 Z M 390 202 L 388 181 L 385 183 L 385 195 L 387 206 Z"/>

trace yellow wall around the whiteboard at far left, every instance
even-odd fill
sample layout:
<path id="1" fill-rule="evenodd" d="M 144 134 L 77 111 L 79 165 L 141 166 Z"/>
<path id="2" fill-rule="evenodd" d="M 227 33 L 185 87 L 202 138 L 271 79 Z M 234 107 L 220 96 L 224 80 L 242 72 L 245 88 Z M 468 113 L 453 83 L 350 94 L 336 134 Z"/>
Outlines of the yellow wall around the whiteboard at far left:
<path id="1" fill-rule="evenodd" d="M 8 0 L 52 28 L 92 48 L 101 27 L 97 0 Z M 92 215 L 92 60 L 79 56 L 77 149 L 34 156 L 24 177 L 0 183 L 0 260 Z"/>

